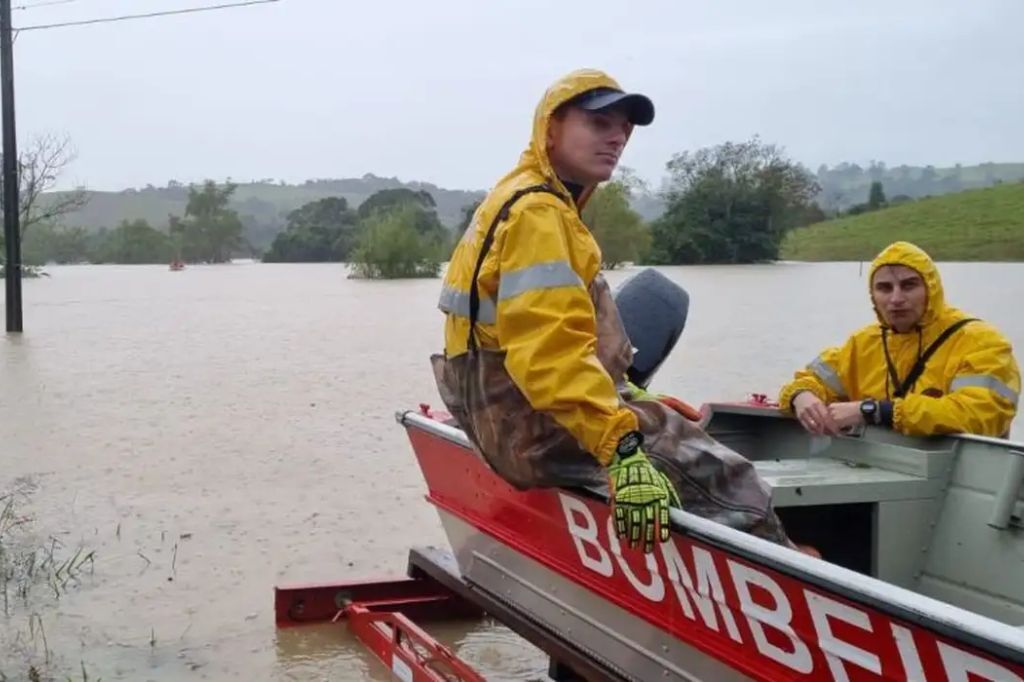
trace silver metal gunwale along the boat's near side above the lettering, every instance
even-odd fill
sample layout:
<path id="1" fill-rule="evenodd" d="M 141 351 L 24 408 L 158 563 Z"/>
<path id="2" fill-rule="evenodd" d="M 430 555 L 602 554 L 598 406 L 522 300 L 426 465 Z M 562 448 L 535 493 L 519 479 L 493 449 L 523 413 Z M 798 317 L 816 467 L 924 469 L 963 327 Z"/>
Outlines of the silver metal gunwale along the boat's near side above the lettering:
<path id="1" fill-rule="evenodd" d="M 427 431 L 472 452 L 472 444 L 461 429 L 415 411 L 397 412 L 395 419 L 407 428 Z M 1009 443 L 995 440 L 1000 445 Z M 1012 445 L 1008 445 L 1008 450 L 1009 447 Z M 601 504 L 608 503 L 606 496 L 594 489 L 561 489 Z M 674 532 L 680 532 L 756 565 L 771 568 L 853 603 L 924 627 L 937 635 L 973 646 L 997 658 L 1024 665 L 1024 630 L 878 578 L 814 559 L 689 512 L 675 508 L 669 511 Z"/>

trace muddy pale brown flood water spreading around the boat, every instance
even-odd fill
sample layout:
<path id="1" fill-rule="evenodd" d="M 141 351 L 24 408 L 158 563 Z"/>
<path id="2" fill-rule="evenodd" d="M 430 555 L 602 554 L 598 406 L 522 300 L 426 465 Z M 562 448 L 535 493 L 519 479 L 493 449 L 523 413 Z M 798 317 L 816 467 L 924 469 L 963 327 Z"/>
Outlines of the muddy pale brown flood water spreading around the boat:
<path id="1" fill-rule="evenodd" d="M 940 267 L 947 300 L 1024 348 L 1024 264 Z M 653 387 L 697 403 L 774 395 L 871 319 L 863 269 L 663 268 L 691 307 Z M 438 403 L 439 281 L 348 280 L 337 264 L 48 272 L 25 282 L 25 334 L 0 337 L 0 496 L 24 493 L 25 547 L 95 554 L 55 589 L 8 586 L 0 672 L 388 679 L 338 627 L 276 631 L 273 587 L 401 577 L 410 546 L 444 546 L 394 420 Z M 496 624 L 440 634 L 488 679 L 545 678 Z"/>

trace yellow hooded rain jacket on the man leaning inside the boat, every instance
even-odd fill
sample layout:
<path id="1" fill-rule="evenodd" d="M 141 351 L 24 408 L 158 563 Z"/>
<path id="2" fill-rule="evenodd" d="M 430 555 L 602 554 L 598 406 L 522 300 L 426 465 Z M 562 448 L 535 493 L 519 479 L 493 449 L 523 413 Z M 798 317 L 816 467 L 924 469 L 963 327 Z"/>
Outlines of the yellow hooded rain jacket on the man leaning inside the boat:
<path id="1" fill-rule="evenodd" d="M 932 355 L 924 373 L 904 397 L 896 397 L 883 347 L 883 335 L 900 382 L 918 358 L 946 329 L 969 315 L 946 304 L 935 263 L 906 242 L 887 247 L 871 263 L 868 292 L 876 270 L 905 265 L 921 273 L 928 289 L 925 314 L 916 330 L 897 334 L 880 324 L 864 327 L 842 347 L 825 349 L 779 393 L 783 411 L 792 413 L 794 396 L 810 390 L 825 402 L 874 398 L 892 400 L 893 428 L 907 435 L 974 433 L 1006 436 L 1017 414 L 1020 371 L 1010 342 L 994 327 L 970 322 Z"/>

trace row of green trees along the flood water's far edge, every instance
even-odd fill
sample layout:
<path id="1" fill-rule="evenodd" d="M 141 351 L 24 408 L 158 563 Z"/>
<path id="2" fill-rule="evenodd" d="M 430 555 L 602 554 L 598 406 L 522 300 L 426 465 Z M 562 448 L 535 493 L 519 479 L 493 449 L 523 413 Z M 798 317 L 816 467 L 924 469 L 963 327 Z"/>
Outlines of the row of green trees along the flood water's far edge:
<path id="1" fill-rule="evenodd" d="M 624 263 L 752 263 L 778 257 L 786 231 L 825 219 L 814 203 L 820 186 L 801 165 L 757 137 L 685 152 L 668 164 L 665 211 L 648 223 L 632 207 L 649 194 L 628 168 L 600 186 L 582 217 L 601 248 L 602 266 Z M 243 221 L 230 208 L 237 186 L 207 180 L 186 193 L 183 215 L 166 230 L 145 220 L 112 229 L 41 223 L 25 242 L 27 262 L 218 263 L 245 253 Z M 881 184 L 865 207 L 886 204 Z M 477 204 L 464 208 L 461 233 Z M 864 210 L 868 210 L 865 208 Z M 347 262 L 355 276 L 436 276 L 454 233 L 426 190 L 386 188 L 352 208 L 343 197 L 306 203 L 287 215 L 264 262 Z"/>

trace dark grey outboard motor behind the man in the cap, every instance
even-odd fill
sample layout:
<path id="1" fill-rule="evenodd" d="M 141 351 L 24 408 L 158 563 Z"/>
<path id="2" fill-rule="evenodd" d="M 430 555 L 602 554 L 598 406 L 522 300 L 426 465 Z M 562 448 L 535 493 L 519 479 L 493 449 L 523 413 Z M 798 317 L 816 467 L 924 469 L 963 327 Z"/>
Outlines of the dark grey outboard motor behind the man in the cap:
<path id="1" fill-rule="evenodd" d="M 637 386 L 647 388 L 686 327 L 689 294 L 648 268 L 625 282 L 614 299 L 626 334 L 636 348 L 627 375 Z"/>

